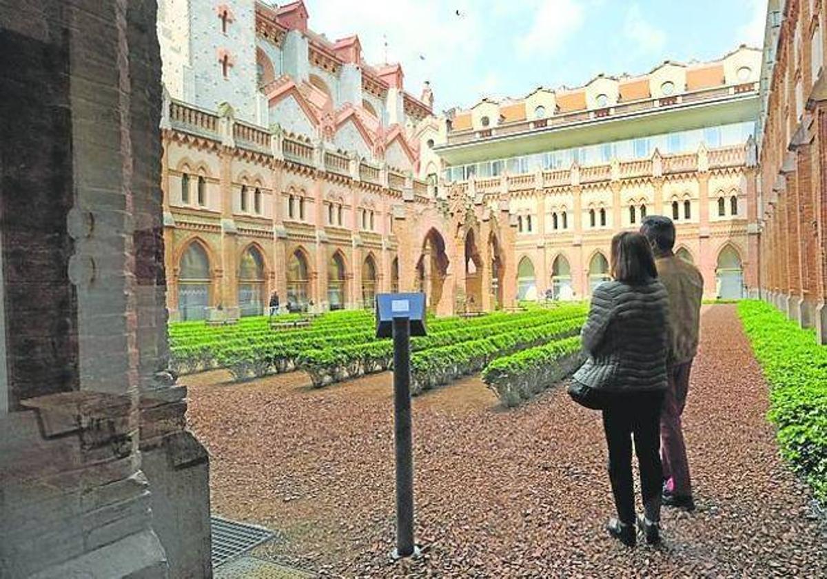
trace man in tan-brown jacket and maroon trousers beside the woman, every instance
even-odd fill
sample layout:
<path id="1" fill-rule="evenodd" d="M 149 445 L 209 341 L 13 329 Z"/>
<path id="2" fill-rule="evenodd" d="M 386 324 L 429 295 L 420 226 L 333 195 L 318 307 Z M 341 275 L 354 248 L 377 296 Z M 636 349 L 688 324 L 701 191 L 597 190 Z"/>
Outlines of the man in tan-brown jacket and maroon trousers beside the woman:
<path id="1" fill-rule="evenodd" d="M 672 219 L 651 215 L 643 219 L 640 232 L 652 244 L 657 277 L 669 294 L 669 386 L 661 411 L 661 462 L 666 481 L 662 500 L 667 506 L 694 510 L 681 414 L 686 406 L 692 360 L 698 351 L 704 279 L 696 266 L 672 253 L 675 246 Z"/>

